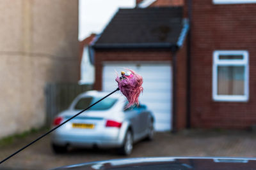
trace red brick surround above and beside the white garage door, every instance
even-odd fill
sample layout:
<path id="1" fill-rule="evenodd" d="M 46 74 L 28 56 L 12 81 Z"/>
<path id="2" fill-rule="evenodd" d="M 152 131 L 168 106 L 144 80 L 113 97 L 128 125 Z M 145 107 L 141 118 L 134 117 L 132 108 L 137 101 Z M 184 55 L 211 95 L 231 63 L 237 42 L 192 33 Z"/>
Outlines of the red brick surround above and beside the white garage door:
<path id="1" fill-rule="evenodd" d="M 109 50 L 95 52 L 95 90 L 102 89 L 104 61 L 172 61 L 170 50 Z M 186 48 L 177 53 L 177 128 L 186 126 Z"/>

